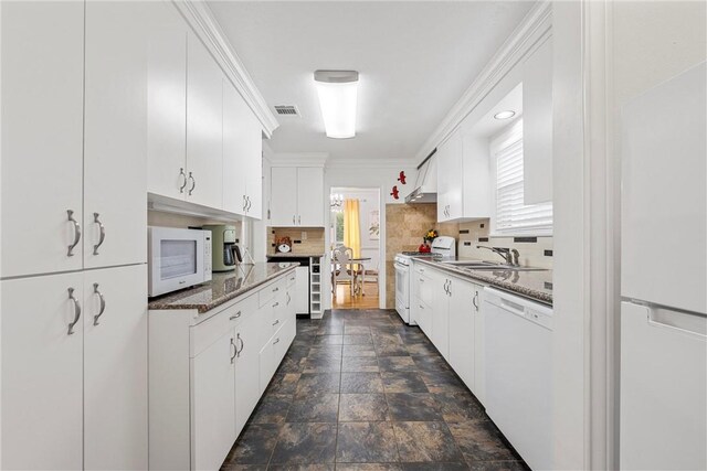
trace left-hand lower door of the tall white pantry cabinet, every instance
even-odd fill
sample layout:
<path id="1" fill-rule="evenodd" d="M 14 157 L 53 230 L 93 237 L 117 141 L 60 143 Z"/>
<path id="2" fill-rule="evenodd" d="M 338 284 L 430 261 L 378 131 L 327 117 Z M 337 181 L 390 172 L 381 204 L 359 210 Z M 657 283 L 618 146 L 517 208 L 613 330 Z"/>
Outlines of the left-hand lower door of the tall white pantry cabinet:
<path id="1" fill-rule="evenodd" d="M 83 465 L 83 323 L 68 334 L 83 285 L 81 272 L 1 282 L 2 469 Z"/>

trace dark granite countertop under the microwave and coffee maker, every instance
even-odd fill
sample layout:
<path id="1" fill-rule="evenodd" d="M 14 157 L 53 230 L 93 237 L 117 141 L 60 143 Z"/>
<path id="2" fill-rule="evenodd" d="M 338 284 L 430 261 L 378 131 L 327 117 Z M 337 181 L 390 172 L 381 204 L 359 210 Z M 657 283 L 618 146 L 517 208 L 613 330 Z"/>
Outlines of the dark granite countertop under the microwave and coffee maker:
<path id="1" fill-rule="evenodd" d="M 214 272 L 209 282 L 152 298 L 147 309 L 196 309 L 202 314 L 296 267 L 289 263 L 241 265 L 234 271 Z"/>

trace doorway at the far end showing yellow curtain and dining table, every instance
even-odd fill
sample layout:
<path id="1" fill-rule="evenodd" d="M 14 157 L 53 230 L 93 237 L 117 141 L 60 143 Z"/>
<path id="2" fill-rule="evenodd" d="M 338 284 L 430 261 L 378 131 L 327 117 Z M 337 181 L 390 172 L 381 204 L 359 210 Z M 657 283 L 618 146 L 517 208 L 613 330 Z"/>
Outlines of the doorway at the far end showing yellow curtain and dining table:
<path id="1" fill-rule="evenodd" d="M 331 188 L 331 309 L 378 309 L 380 189 Z"/>

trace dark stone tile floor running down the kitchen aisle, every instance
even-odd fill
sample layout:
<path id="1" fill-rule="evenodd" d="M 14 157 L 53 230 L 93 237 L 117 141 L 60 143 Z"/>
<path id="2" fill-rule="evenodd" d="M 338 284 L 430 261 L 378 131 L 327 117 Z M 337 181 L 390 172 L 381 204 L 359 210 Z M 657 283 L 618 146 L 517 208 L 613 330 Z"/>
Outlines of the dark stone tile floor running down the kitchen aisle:
<path id="1" fill-rule="evenodd" d="M 394 311 L 298 319 L 222 470 L 528 470 L 416 327 Z"/>

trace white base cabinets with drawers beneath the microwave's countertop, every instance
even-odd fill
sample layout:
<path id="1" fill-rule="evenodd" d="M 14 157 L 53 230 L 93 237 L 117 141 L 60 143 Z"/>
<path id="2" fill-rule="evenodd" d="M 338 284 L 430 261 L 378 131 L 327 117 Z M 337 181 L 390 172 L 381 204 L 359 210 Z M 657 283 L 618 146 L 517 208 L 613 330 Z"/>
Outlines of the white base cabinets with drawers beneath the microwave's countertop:
<path id="1" fill-rule="evenodd" d="M 289 271 L 213 311 L 149 311 L 149 468 L 215 470 L 295 336 Z"/>

